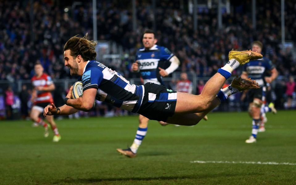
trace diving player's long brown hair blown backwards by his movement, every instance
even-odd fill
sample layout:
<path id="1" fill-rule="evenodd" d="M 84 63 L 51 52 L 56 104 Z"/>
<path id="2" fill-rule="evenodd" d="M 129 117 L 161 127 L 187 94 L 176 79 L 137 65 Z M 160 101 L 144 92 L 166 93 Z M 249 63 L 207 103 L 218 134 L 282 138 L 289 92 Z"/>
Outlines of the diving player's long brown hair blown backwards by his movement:
<path id="1" fill-rule="evenodd" d="M 83 37 L 76 35 L 66 42 L 64 51 L 70 49 L 71 56 L 76 58 L 81 55 L 84 61 L 95 60 L 97 56 L 95 46 L 97 44 L 98 42 L 94 40 L 87 40 L 87 33 Z"/>

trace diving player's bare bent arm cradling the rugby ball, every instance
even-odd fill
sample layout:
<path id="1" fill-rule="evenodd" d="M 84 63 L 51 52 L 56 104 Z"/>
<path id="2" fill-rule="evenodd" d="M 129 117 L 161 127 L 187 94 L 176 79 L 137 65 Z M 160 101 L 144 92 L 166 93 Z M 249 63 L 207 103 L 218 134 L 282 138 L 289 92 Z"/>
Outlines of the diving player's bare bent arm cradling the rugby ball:
<path id="1" fill-rule="evenodd" d="M 66 98 L 68 98 L 68 100 L 65 101 L 66 105 L 81 111 L 90 111 L 94 107 L 94 101 L 98 90 L 96 88 L 86 89 L 83 91 L 82 97 L 72 99 L 72 88 L 73 86 L 70 88 L 69 93 L 66 96 Z"/>

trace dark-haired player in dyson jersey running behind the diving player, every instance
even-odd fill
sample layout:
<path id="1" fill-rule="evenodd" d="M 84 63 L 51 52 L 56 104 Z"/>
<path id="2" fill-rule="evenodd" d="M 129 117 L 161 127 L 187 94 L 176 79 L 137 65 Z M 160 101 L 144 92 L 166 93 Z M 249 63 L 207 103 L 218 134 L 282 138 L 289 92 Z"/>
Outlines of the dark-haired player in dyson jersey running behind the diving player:
<path id="1" fill-rule="evenodd" d="M 168 48 L 156 45 L 157 39 L 155 32 L 146 30 L 143 35 L 144 48 L 138 49 L 136 53 L 136 61 L 132 65 L 132 70 L 140 72 L 144 80 L 144 84 L 151 82 L 163 85 L 162 77 L 166 77 L 173 73 L 180 65 L 179 59 L 169 51 Z M 167 69 L 162 69 L 161 63 L 170 61 L 170 66 Z M 127 157 L 133 158 L 136 156 L 137 150 L 141 145 L 148 128 L 149 119 L 145 116 L 139 115 L 139 128 L 133 144 L 128 149 L 117 149 L 117 151 Z M 160 121 L 162 125 L 167 123 Z"/>

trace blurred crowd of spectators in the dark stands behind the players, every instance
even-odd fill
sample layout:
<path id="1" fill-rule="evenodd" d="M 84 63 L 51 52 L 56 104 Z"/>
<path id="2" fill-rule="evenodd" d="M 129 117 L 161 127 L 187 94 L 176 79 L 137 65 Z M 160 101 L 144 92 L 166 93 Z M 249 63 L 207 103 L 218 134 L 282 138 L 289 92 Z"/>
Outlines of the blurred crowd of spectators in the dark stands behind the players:
<path id="1" fill-rule="evenodd" d="M 232 48 L 249 49 L 254 40 L 260 40 L 263 55 L 279 71 L 277 81 L 270 86 L 269 101 L 275 102 L 278 108 L 295 107 L 296 17 L 292 12 L 296 11 L 296 3 L 285 2 L 286 44 L 282 45 L 280 1 L 256 1 L 256 29 L 252 25 L 251 2 L 230 1 L 229 13 L 226 8 L 222 9 L 221 29 L 218 28 L 217 7 L 200 6 L 198 27 L 194 31 L 190 0 L 155 1 L 155 8 L 151 1 L 136 1 L 136 30 L 132 25 L 131 1 L 97 1 L 97 34 L 98 40 L 102 41 L 99 42 L 102 47 L 98 48 L 98 60 L 129 80 L 138 79 L 139 74 L 130 69 L 136 49 L 142 47 L 144 30 L 155 29 L 157 44 L 169 48 L 180 59 L 177 71 L 188 74 L 194 81 L 193 93 L 198 94 L 208 77 L 227 61 Z M 31 90 L 28 80 L 34 75 L 36 61 L 42 63 L 45 72 L 57 80 L 57 84 L 59 79 L 73 78 L 64 66 L 63 47 L 70 37 L 77 34 L 83 36 L 88 32 L 89 39 L 92 39 L 93 18 L 92 1 L 3 0 L 0 1 L 0 10 L 0 116 L 4 117 L 7 105 L 12 106 L 12 111 L 17 99 L 19 108 L 28 102 Z M 111 57 L 103 58 L 103 54 Z M 114 55 L 117 56 L 116 62 Z M 237 74 L 240 72 L 240 69 L 236 71 Z M 176 88 L 179 76 L 176 73 L 168 78 L 168 86 Z M 67 82 L 71 84 L 75 80 Z M 69 84 L 56 85 L 55 101 L 62 104 Z M 237 104 L 234 107 L 244 110 L 239 96 L 234 97 L 234 104 Z M 2 104 L 6 108 L 1 109 Z M 104 103 L 97 105 L 98 110 L 94 114 L 127 114 Z M 223 106 L 220 110 L 230 110 L 232 105 L 228 102 L 226 107 Z"/>

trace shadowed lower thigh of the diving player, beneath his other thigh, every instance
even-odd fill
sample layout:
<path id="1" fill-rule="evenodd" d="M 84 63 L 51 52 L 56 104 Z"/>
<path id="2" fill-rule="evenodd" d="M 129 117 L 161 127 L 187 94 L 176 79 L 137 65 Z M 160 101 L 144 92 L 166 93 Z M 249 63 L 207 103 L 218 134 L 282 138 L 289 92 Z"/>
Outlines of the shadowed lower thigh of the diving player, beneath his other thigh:
<path id="1" fill-rule="evenodd" d="M 166 122 L 169 124 L 191 126 L 198 124 L 200 120 L 200 116 L 196 114 L 174 114 L 172 117 L 169 117 Z"/>

